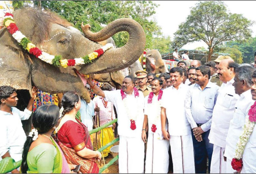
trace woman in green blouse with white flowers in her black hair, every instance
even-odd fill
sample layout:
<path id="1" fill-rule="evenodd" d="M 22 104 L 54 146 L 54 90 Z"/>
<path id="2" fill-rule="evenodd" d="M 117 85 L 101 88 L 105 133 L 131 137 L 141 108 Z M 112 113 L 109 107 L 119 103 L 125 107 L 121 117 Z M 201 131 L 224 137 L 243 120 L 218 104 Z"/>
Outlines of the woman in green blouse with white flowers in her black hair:
<path id="1" fill-rule="evenodd" d="M 32 116 L 34 129 L 29 133 L 22 154 L 21 173 L 70 173 L 58 144 L 51 137 L 58 126 L 60 109 L 53 104 L 37 108 Z M 74 169 L 75 165 L 70 165 Z"/>

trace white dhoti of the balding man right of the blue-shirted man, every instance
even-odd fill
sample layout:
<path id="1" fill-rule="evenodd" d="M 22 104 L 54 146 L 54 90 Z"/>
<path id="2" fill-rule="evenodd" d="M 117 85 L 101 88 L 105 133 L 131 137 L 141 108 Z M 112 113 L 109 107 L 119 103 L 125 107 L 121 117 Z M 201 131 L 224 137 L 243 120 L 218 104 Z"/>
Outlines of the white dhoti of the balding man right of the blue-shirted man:
<path id="1" fill-rule="evenodd" d="M 225 148 L 213 144 L 211 173 L 226 173 L 226 162 L 224 161 Z"/>

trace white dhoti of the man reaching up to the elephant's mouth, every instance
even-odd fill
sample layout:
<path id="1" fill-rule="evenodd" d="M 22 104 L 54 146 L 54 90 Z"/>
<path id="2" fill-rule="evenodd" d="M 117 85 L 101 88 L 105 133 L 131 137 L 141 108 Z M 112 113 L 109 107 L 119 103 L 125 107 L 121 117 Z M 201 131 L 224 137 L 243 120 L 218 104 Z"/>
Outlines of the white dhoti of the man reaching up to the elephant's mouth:
<path id="1" fill-rule="evenodd" d="M 142 138 L 121 135 L 119 137 L 119 173 L 144 173 Z"/>

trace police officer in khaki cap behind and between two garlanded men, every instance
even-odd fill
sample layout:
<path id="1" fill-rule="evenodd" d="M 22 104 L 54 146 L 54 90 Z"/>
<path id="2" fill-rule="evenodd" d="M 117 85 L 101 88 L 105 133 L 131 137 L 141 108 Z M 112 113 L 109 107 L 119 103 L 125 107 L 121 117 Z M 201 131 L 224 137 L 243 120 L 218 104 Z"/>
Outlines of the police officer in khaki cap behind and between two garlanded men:
<path id="1" fill-rule="evenodd" d="M 136 88 L 138 89 L 138 91 L 142 91 L 144 97 L 146 97 L 147 95 L 149 95 L 150 92 L 152 92 L 151 87 L 147 85 L 148 73 L 146 71 L 139 70 L 139 71 L 136 71 L 135 74 L 139 81 L 139 85 Z"/>

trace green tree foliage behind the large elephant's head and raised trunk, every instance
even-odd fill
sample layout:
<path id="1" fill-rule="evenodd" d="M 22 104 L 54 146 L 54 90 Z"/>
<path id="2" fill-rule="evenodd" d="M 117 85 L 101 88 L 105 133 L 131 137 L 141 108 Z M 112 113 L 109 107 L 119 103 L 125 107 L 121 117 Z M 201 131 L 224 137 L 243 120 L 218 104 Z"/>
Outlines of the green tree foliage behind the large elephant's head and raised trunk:
<path id="1" fill-rule="evenodd" d="M 15 2 L 15 6 L 21 7 L 28 2 L 34 6 L 39 1 Z M 41 1 L 42 9 L 48 9 L 63 16 L 81 30 L 82 21 L 89 23 L 93 32 L 100 31 L 108 23 L 119 18 L 132 18 L 144 29 L 146 34 L 145 48 L 152 48 L 153 36 L 161 36 L 161 28 L 149 18 L 155 14 L 158 7 L 153 1 Z M 122 47 L 129 39 L 125 31 L 113 36 L 116 47 Z"/>

